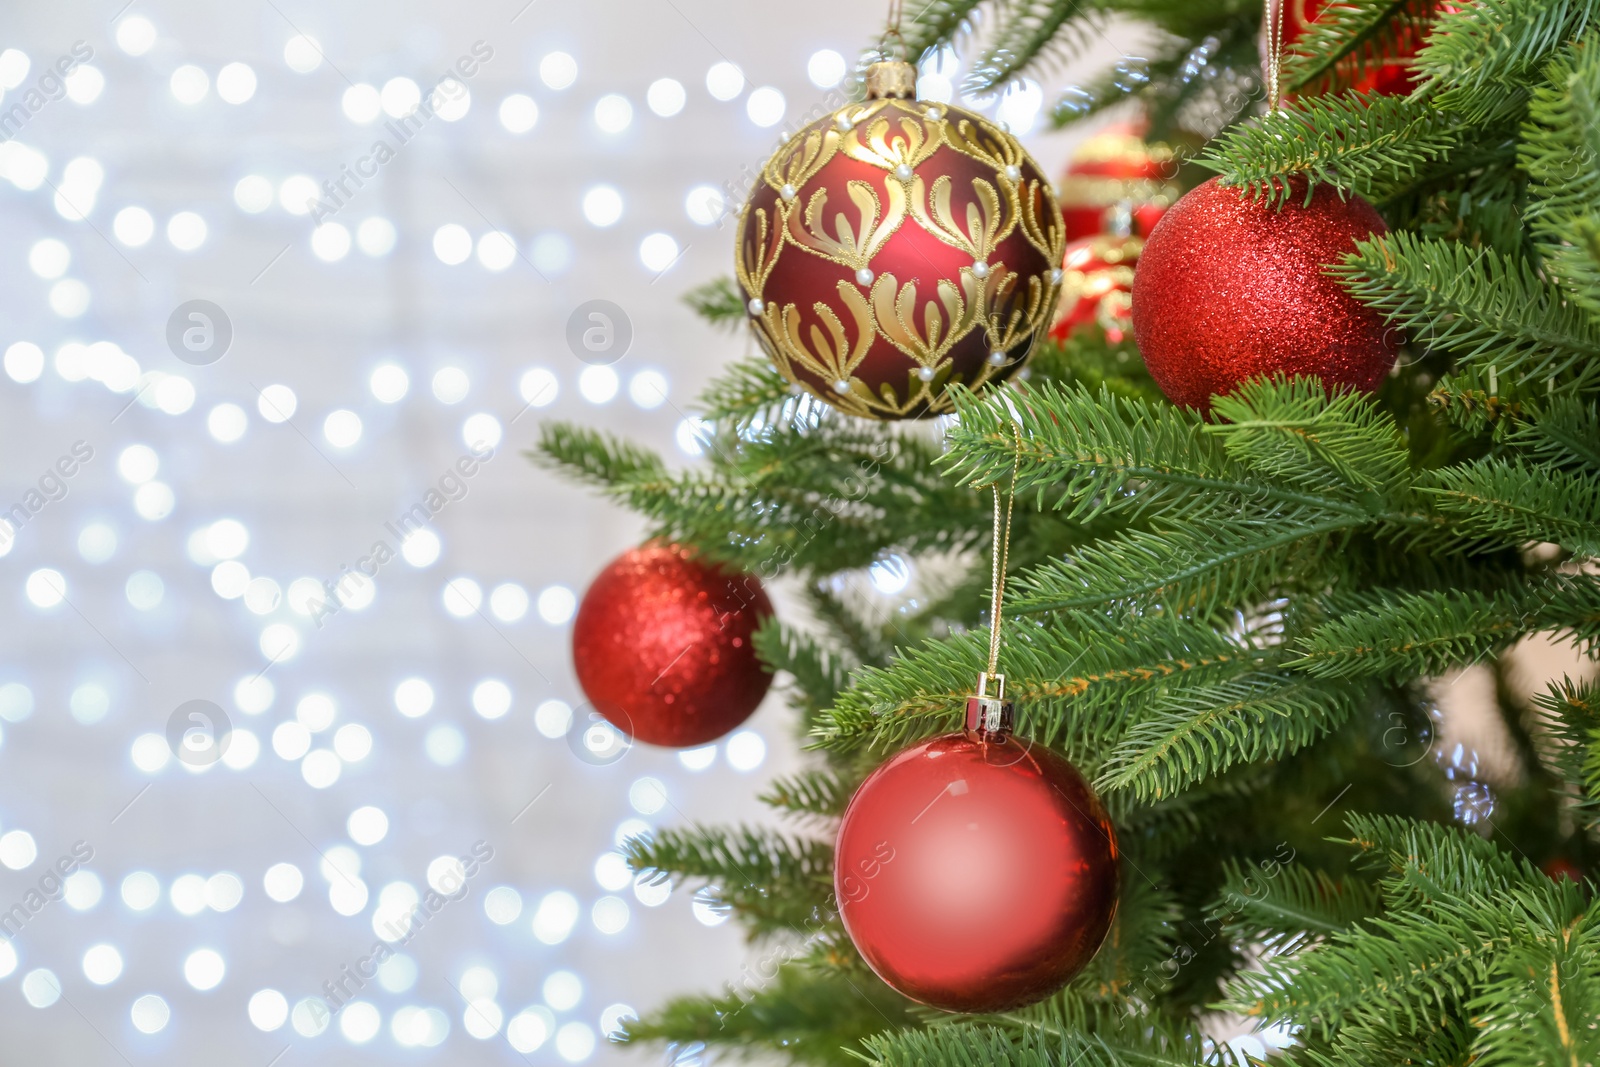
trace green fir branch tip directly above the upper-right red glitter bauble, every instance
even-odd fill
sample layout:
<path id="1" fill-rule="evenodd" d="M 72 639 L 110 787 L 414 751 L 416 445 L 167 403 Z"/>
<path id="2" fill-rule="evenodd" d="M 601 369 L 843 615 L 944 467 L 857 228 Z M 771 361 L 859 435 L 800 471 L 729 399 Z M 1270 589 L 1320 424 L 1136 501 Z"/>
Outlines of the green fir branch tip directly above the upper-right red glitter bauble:
<path id="1" fill-rule="evenodd" d="M 1197 162 L 1270 205 L 1294 195 L 1310 203 L 1318 184 L 1360 194 L 1387 189 L 1443 158 L 1461 138 L 1450 117 L 1405 96 L 1309 96 L 1229 128 Z"/>

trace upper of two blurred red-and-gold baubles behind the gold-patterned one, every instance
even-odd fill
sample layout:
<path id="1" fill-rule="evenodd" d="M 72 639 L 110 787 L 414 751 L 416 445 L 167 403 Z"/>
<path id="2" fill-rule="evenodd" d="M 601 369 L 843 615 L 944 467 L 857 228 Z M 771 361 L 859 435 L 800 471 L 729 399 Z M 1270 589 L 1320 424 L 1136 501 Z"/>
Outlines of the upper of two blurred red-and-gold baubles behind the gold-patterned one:
<path id="1" fill-rule="evenodd" d="M 1178 163 L 1165 144 L 1147 144 L 1142 125 L 1117 123 L 1072 154 L 1061 178 L 1061 218 L 1067 240 L 1110 232 L 1107 213 L 1126 205 L 1133 232 L 1147 235 L 1182 192 Z"/>

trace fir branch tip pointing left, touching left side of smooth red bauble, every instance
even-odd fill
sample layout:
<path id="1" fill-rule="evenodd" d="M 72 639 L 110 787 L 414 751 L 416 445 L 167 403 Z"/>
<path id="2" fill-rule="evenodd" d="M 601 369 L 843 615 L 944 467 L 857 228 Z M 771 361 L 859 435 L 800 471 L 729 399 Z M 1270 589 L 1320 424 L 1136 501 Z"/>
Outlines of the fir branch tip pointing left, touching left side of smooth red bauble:
<path id="1" fill-rule="evenodd" d="M 629 838 L 622 854 L 646 880 L 712 885 L 752 937 L 811 934 L 834 921 L 830 843 L 755 827 L 693 827 Z"/>

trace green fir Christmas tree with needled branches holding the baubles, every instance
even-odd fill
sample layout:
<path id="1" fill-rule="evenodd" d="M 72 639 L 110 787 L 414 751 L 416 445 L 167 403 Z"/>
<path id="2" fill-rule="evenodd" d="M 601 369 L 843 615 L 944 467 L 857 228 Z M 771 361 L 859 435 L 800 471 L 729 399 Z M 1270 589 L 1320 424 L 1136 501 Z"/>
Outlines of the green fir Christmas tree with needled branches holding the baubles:
<path id="1" fill-rule="evenodd" d="M 1341 0 L 1290 27 L 1278 77 L 1238 0 L 933 0 L 901 35 L 912 58 L 976 48 L 981 19 L 965 88 L 982 93 L 1110 16 L 1154 26 L 1154 51 L 1067 90 L 1056 123 L 1139 107 L 1184 187 L 1370 200 L 1389 232 L 1330 270 L 1403 338 L 1397 370 L 1370 395 L 1254 379 L 1202 416 L 1131 338 L 1091 328 L 922 422 L 842 414 L 739 363 L 702 398 L 690 470 L 547 426 L 541 462 L 661 537 L 782 576 L 810 616 L 755 638 L 814 757 L 765 793 L 792 830 L 629 846 L 731 909 L 758 961 L 629 1037 L 803 1064 L 1200 1064 L 1240 1054 L 1218 1035 L 1243 1019 L 1290 1064 L 1600 1062 L 1582 880 L 1600 694 L 1586 675 L 1525 699 L 1504 659 L 1530 635 L 1589 657 L 1600 640 L 1600 3 Z M 1398 88 L 1376 77 L 1395 66 Z M 691 302 L 747 320 L 731 283 Z M 960 1016 L 866 966 L 834 833 L 885 758 L 962 726 L 989 649 L 990 486 L 1011 478 L 1018 733 L 1094 782 L 1122 899 L 1058 993 Z M 893 555 L 922 584 L 885 617 L 858 590 Z M 1469 664 L 1494 670 L 1515 763 L 1493 789 L 1440 744 L 1427 696 Z"/>

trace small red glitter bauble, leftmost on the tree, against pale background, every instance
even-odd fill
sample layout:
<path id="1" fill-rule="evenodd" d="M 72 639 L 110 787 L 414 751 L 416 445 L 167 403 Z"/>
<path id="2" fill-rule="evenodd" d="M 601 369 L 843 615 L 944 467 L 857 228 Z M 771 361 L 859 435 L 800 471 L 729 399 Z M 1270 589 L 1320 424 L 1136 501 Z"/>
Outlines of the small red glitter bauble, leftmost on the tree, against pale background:
<path id="1" fill-rule="evenodd" d="M 686 749 L 755 710 L 773 675 L 750 635 L 773 613 L 762 584 L 650 542 L 595 577 L 573 622 L 573 667 L 594 709 L 622 733 Z"/>

